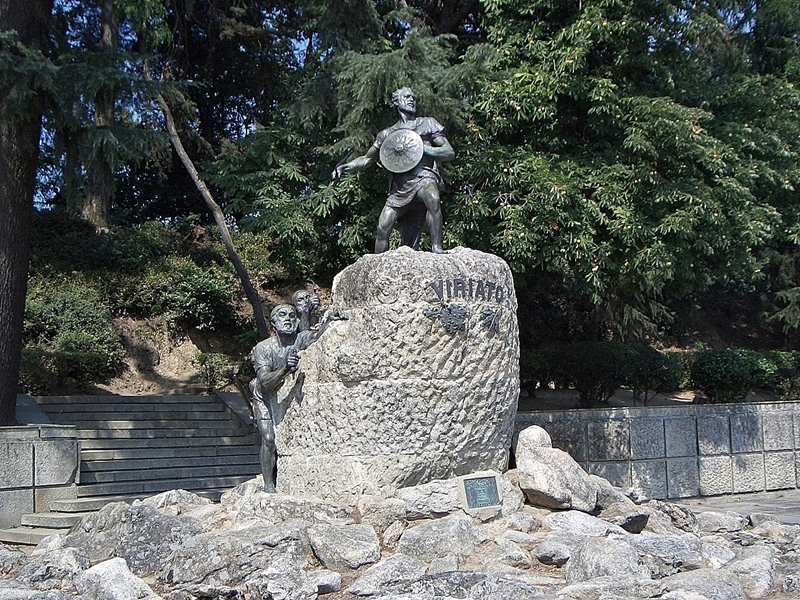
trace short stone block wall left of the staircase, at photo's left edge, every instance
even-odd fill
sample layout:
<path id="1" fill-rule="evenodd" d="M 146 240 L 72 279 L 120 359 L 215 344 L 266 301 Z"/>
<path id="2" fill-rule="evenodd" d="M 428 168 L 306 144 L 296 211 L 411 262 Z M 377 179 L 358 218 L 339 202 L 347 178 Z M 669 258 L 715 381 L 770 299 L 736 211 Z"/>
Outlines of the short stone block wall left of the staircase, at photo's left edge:
<path id="1" fill-rule="evenodd" d="M 52 500 L 75 498 L 80 445 L 71 425 L 0 428 L 0 528 Z"/>

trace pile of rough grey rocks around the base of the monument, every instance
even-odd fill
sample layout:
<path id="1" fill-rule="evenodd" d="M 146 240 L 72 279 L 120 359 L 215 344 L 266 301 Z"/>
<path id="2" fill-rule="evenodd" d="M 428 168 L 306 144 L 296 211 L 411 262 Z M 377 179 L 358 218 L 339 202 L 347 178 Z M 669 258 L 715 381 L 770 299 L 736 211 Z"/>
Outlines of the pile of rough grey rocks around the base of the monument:
<path id="1" fill-rule="evenodd" d="M 264 494 L 258 480 L 219 504 L 184 491 L 110 504 L 29 557 L 0 546 L 0 600 L 800 595 L 800 527 L 636 503 L 538 428 L 520 434 L 516 460 L 483 520 L 461 509 L 457 480 L 351 505 Z"/>

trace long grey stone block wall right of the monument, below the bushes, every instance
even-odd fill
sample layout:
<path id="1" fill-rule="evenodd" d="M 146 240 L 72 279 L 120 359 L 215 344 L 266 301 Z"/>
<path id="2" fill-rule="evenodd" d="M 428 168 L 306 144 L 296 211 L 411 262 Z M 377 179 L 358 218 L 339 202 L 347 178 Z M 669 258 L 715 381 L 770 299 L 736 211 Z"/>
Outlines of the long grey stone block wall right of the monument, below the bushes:
<path id="1" fill-rule="evenodd" d="M 800 404 L 686 405 L 518 413 L 589 473 L 651 498 L 797 488 Z"/>

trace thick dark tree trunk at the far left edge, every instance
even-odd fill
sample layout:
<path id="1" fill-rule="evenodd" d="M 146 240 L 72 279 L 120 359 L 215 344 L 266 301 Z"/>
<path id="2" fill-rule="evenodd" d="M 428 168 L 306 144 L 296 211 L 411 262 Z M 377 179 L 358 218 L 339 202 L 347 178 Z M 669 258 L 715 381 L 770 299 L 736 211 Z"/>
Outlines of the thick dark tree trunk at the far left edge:
<path id="1" fill-rule="evenodd" d="M 52 0 L 0 0 L 0 30 L 13 29 L 36 45 Z M 0 105 L 7 88 L 0 88 Z M 42 127 L 41 102 L 23 116 L 0 122 L 0 426 L 14 425 L 17 406 L 22 323 L 25 314 L 31 215 Z"/>

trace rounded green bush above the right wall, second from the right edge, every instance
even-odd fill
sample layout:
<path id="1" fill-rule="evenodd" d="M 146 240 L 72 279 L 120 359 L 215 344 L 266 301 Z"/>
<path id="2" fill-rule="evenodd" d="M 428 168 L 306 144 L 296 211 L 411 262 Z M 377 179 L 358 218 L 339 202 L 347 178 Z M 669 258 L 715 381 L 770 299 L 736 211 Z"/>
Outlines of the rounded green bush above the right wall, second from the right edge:
<path id="1" fill-rule="evenodd" d="M 715 348 L 698 352 L 692 363 L 692 383 L 711 402 L 736 402 L 770 379 L 773 367 L 758 352 Z"/>

